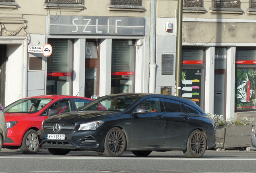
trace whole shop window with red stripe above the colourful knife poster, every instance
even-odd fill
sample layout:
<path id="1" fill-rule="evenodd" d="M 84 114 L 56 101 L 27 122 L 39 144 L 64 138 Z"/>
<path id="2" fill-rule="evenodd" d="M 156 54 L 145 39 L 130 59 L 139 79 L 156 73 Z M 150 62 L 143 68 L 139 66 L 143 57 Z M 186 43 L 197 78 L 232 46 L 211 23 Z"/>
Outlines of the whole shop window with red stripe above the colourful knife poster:
<path id="1" fill-rule="evenodd" d="M 182 48 L 181 97 L 195 101 L 203 108 L 204 99 L 204 48 Z"/>

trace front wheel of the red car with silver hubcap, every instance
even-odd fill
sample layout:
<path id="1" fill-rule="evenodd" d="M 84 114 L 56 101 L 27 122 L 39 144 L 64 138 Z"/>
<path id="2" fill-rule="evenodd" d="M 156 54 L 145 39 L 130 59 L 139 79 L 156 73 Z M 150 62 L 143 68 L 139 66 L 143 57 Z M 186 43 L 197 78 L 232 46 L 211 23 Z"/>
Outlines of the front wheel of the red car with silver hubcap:
<path id="1" fill-rule="evenodd" d="M 37 131 L 31 129 L 27 131 L 22 139 L 20 150 L 24 154 L 36 154 L 39 151 L 39 140 Z"/>

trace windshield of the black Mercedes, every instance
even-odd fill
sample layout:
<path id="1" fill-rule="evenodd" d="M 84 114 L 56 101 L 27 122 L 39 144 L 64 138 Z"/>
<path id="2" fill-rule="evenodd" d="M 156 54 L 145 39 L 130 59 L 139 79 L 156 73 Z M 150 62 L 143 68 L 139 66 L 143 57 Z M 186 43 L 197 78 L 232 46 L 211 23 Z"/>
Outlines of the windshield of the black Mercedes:
<path id="1" fill-rule="evenodd" d="M 132 105 L 139 97 L 138 96 L 105 96 L 91 103 L 88 103 L 80 110 L 109 110 L 109 111 L 124 111 Z"/>

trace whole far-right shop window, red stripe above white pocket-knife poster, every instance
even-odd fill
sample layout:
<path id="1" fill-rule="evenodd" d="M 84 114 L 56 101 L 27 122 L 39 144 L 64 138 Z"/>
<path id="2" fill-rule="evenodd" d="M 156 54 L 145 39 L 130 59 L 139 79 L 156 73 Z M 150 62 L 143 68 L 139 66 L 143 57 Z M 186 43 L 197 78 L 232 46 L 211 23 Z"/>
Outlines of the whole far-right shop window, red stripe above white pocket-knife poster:
<path id="1" fill-rule="evenodd" d="M 256 48 L 236 48 L 235 111 L 256 111 Z"/>

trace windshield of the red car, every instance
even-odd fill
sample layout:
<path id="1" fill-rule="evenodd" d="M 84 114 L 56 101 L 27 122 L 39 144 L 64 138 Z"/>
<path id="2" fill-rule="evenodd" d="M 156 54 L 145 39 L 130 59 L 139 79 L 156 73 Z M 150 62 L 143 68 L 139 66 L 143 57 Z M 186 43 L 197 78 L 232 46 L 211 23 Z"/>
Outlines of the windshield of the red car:
<path id="1" fill-rule="evenodd" d="M 4 113 L 36 113 L 52 99 L 21 99 L 4 108 Z"/>

